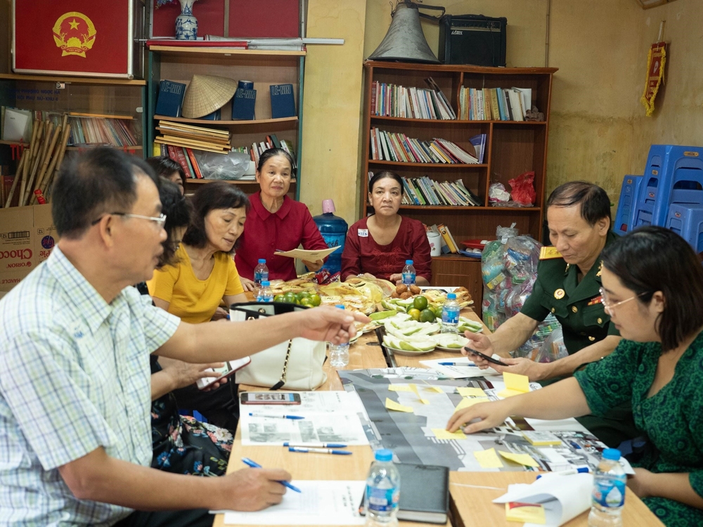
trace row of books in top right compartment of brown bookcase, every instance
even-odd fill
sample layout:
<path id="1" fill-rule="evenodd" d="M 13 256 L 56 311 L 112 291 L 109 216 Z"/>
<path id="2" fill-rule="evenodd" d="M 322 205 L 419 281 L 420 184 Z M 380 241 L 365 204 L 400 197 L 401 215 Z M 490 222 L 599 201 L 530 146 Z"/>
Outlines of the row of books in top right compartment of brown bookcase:
<path id="1" fill-rule="evenodd" d="M 529 88 L 462 88 L 459 118 L 468 121 L 524 121 L 531 109 Z"/>

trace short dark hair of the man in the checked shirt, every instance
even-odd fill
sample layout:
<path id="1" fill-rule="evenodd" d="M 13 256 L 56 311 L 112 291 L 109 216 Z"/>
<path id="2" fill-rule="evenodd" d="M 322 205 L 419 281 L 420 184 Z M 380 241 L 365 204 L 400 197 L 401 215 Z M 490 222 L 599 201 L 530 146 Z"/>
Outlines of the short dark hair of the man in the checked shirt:
<path id="1" fill-rule="evenodd" d="M 51 190 L 56 234 L 77 240 L 102 214 L 129 212 L 140 175 L 159 187 L 159 179 L 144 160 L 116 148 L 91 148 L 67 157 Z"/>

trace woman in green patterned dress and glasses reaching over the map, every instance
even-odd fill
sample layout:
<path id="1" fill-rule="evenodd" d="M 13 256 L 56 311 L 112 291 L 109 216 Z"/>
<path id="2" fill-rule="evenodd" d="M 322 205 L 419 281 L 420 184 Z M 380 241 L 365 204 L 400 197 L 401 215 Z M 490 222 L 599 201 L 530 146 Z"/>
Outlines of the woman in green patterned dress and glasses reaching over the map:
<path id="1" fill-rule="evenodd" d="M 602 301 L 623 337 L 614 353 L 543 389 L 460 410 L 447 429 L 603 415 L 629 399 L 651 449 L 628 486 L 666 526 L 703 525 L 703 267 L 661 227 L 633 231 L 602 259 Z"/>

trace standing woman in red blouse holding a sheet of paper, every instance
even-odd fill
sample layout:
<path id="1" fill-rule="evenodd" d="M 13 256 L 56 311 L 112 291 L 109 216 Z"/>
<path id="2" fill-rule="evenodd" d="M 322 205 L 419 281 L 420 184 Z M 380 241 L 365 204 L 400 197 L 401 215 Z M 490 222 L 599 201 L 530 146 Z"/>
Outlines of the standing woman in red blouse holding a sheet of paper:
<path id="1" fill-rule="evenodd" d="M 280 148 L 269 148 L 259 157 L 257 181 L 261 190 L 250 195 L 252 206 L 247 213 L 244 233 L 239 239 L 234 261 L 245 289 L 254 290 L 254 268 L 259 258 L 266 259 L 269 280 L 292 280 L 295 260 L 273 256 L 274 251 L 327 249 L 305 204 L 291 200 L 290 188 L 293 159 Z M 318 271 L 323 261 L 303 261 L 310 271 Z"/>

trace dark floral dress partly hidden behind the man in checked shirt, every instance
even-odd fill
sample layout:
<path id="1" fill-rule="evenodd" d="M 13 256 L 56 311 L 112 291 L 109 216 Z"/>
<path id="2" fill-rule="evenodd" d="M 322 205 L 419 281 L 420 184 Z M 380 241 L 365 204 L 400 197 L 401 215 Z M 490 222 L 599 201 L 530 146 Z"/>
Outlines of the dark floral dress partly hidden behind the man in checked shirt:
<path id="1" fill-rule="evenodd" d="M 152 374 L 160 370 L 157 358 L 151 356 Z M 173 393 L 151 403 L 151 437 L 155 469 L 196 476 L 221 476 L 227 469 L 231 432 L 179 415 Z"/>

